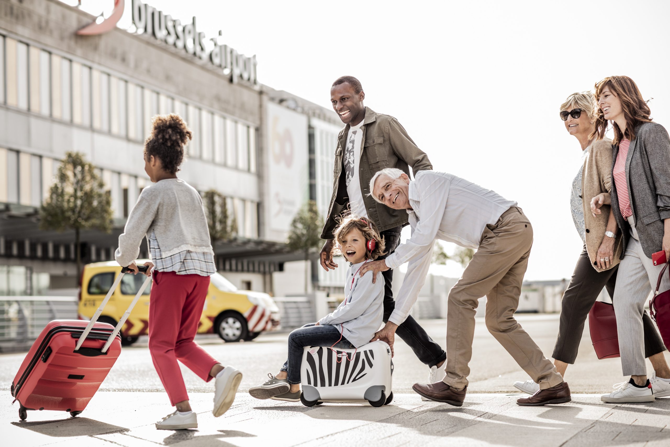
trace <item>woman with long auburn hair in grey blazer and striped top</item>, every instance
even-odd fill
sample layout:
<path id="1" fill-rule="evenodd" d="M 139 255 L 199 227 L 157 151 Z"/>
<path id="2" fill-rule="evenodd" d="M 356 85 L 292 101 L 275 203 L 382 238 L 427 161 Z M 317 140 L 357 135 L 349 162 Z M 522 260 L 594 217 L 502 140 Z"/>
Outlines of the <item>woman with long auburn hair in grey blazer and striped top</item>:
<path id="1" fill-rule="evenodd" d="M 608 121 L 614 130 L 611 196 L 598 194 L 592 212 L 604 204 L 622 233 L 622 255 L 614 290 L 614 312 L 624 375 L 630 380 L 604 402 L 649 402 L 670 395 L 670 374 L 655 365 L 651 381 L 645 365 L 644 305 L 661 272 L 651 255 L 665 251 L 670 258 L 670 137 L 649 116 L 651 111 L 628 76 L 610 76 L 596 84 L 596 120 L 591 137 L 603 139 Z M 659 292 L 670 289 L 664 277 Z M 663 355 L 662 353 L 660 355 Z"/>

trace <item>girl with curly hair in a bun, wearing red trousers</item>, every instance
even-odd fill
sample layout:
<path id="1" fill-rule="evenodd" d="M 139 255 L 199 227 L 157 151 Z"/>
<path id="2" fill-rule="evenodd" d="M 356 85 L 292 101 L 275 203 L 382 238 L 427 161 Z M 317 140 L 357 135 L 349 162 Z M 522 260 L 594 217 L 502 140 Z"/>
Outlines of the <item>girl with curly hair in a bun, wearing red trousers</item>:
<path id="1" fill-rule="evenodd" d="M 223 367 L 193 341 L 202 316 L 210 275 L 216 272 L 214 251 L 200 194 L 177 178 L 184 145 L 192 133 L 179 115 L 153 117 L 144 145 L 144 170 L 153 185 L 144 188 L 119 236 L 115 258 L 137 274 L 135 258 L 147 238 L 153 275 L 149 304 L 149 352 L 158 376 L 176 407 L 156 423 L 159 430 L 198 428 L 177 361 L 204 381 L 214 381 L 214 416 L 235 399 L 242 373 Z"/>

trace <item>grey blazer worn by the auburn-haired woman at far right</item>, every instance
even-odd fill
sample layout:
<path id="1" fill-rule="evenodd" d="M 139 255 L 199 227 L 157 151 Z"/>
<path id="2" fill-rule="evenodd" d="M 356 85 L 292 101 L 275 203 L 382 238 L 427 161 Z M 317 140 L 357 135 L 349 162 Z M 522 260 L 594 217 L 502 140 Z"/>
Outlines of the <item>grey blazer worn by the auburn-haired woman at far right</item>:
<path id="1" fill-rule="evenodd" d="M 614 146 L 612 170 L 616 163 L 618 145 Z M 670 138 L 660 124 L 641 123 L 635 127 L 635 139 L 630 141 L 626 157 L 626 183 L 630 204 L 635 216 L 635 229 L 647 257 L 661 251 L 663 219 L 670 218 Z M 623 251 L 630 239 L 630 225 L 621 216 L 616 185 L 612 178 L 612 208 L 614 218 L 623 233 Z"/>

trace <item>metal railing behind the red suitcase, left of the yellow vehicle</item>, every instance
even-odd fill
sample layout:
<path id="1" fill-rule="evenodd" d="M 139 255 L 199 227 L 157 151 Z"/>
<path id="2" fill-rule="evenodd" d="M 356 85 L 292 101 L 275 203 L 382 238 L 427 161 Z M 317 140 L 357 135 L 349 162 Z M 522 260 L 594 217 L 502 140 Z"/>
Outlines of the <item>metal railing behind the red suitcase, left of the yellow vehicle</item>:
<path id="1" fill-rule="evenodd" d="M 70 296 L 0 296 L 0 353 L 27 350 L 51 320 L 76 320 Z"/>

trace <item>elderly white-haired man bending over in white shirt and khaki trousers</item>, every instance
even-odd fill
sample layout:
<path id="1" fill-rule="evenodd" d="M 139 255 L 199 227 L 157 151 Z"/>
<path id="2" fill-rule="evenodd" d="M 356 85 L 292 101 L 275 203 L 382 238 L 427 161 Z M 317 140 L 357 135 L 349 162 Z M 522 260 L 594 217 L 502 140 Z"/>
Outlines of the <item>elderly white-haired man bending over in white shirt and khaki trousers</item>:
<path id="1" fill-rule="evenodd" d="M 409 213 L 412 233 L 395 253 L 369 262 L 366 271 L 395 269 L 409 261 L 405 281 L 386 326 L 376 339 L 393 346 L 395 329 L 409 315 L 425 282 L 435 239 L 476 249 L 472 261 L 450 290 L 447 310 L 446 377 L 419 385 L 414 391 L 433 401 L 461 406 L 468 388 L 472 357 L 474 314 L 478 299 L 486 296 L 486 328 L 519 366 L 539 384 L 519 405 L 546 405 L 570 401 L 570 389 L 533 339 L 515 320 L 521 283 L 533 245 L 533 227 L 517 202 L 507 200 L 446 172 L 420 171 L 415 180 L 388 168 L 370 181 L 371 195 L 382 204 Z"/>

